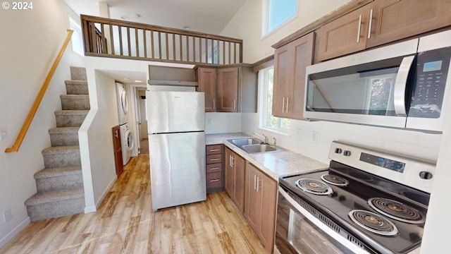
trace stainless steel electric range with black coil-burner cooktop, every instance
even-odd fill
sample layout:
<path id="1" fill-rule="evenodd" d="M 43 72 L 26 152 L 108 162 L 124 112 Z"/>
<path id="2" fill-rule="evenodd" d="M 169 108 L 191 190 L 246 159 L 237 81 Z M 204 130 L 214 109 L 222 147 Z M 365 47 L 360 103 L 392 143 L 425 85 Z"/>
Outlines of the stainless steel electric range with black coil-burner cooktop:
<path id="1" fill-rule="evenodd" d="M 434 162 L 339 142 L 329 157 L 328 169 L 280 178 L 280 253 L 406 254 L 421 245 Z"/>

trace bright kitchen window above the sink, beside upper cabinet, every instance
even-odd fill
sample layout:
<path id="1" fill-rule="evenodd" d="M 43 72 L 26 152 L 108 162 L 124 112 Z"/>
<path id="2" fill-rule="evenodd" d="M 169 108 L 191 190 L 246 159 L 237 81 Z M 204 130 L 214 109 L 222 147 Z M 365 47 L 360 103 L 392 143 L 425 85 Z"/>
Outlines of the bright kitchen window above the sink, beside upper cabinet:
<path id="1" fill-rule="evenodd" d="M 281 133 L 288 133 L 290 119 L 273 116 L 273 76 L 274 67 L 259 71 L 259 84 L 261 96 L 260 103 L 260 128 Z"/>

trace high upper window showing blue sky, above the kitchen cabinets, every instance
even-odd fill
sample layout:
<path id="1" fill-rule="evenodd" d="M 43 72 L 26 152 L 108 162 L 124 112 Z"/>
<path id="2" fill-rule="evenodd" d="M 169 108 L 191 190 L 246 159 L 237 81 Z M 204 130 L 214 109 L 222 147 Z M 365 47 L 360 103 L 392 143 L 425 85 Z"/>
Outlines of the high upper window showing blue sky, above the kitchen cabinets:
<path id="1" fill-rule="evenodd" d="M 297 16 L 297 0 L 264 0 L 263 3 L 262 36 Z"/>

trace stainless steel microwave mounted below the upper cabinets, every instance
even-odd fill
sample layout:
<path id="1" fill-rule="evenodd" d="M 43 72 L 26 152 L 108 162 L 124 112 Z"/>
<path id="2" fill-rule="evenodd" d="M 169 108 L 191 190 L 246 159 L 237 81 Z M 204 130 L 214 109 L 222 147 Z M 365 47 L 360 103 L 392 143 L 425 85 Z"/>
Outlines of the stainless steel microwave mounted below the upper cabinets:
<path id="1" fill-rule="evenodd" d="M 442 133 L 451 30 L 307 67 L 304 117 Z"/>

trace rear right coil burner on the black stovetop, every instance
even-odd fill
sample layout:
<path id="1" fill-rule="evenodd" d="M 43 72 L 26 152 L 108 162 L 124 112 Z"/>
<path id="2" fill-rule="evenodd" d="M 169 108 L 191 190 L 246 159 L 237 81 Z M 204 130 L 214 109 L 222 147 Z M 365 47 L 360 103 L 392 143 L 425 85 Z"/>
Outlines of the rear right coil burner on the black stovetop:
<path id="1" fill-rule="evenodd" d="M 400 222 L 422 224 L 425 221 L 424 215 L 418 210 L 388 198 L 370 198 L 368 205 L 377 212 Z"/>

